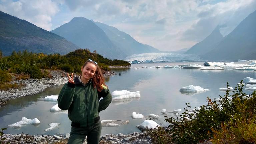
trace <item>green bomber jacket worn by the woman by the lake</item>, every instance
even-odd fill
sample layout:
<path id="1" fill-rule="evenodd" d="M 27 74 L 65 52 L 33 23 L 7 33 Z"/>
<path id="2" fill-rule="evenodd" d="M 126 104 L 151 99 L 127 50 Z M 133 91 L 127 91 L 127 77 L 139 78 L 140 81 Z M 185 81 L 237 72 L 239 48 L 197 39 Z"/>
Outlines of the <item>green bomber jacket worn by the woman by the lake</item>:
<path id="1" fill-rule="evenodd" d="M 75 77 L 74 82 L 75 84 L 68 82 L 62 87 L 58 96 L 59 108 L 68 110 L 68 118 L 72 121 L 72 126 L 94 125 L 96 120 L 100 119 L 99 112 L 111 103 L 111 93 L 107 87 L 101 92 L 97 91 L 97 88 L 93 88 L 92 80 L 83 84 L 80 78 Z"/>

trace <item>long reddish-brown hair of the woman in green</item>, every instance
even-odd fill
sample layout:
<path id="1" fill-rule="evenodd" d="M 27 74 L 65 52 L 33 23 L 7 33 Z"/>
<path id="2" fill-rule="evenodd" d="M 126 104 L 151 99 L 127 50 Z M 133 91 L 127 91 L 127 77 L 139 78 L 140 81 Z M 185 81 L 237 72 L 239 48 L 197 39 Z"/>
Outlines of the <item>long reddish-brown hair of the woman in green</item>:
<path id="1" fill-rule="evenodd" d="M 83 68 L 88 64 L 88 63 L 92 63 L 96 66 L 96 71 L 92 77 L 92 82 L 93 82 L 93 88 L 97 88 L 98 91 L 102 91 L 103 90 L 103 85 L 107 87 L 107 85 L 105 84 L 105 79 L 101 73 L 101 69 L 99 67 L 99 65 L 95 64 L 94 61 L 89 61 L 87 60 L 84 64 L 83 64 Z"/>

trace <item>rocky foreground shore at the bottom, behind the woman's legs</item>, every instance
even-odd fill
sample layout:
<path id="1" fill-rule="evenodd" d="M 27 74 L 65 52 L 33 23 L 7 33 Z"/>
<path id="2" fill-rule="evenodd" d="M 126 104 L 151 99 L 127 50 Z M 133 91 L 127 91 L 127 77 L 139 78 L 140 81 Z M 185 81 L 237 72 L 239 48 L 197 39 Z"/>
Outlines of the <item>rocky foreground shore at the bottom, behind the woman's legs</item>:
<path id="1" fill-rule="evenodd" d="M 66 144 L 69 133 L 65 135 L 26 135 L 26 134 L 4 134 L 6 138 L 3 143 L 10 144 Z M 83 144 L 87 144 L 87 139 Z M 129 135 L 119 133 L 118 135 L 106 134 L 101 136 L 100 144 L 152 144 L 150 136 L 146 132 L 134 132 Z"/>

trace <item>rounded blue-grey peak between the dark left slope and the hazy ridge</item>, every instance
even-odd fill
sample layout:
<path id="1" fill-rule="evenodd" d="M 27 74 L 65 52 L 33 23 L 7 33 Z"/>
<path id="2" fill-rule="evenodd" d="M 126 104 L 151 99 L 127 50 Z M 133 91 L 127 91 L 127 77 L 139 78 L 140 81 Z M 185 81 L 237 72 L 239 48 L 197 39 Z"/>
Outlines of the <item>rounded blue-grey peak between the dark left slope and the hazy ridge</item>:
<path id="1" fill-rule="evenodd" d="M 52 30 L 83 49 L 96 50 L 110 59 L 122 59 L 127 55 L 114 45 L 105 32 L 84 17 L 74 17 L 70 22 Z"/>

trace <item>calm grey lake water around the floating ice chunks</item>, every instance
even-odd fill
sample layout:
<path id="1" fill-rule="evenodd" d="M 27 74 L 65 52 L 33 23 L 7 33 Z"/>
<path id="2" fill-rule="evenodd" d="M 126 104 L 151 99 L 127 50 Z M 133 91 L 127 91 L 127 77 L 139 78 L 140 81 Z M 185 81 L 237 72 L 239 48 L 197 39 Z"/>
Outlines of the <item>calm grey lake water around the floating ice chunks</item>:
<path id="1" fill-rule="evenodd" d="M 133 66 L 164 66 L 178 65 L 186 63 L 151 63 L 138 64 Z M 203 62 L 197 63 L 202 65 Z M 256 78 L 256 71 L 235 71 L 232 68 L 225 70 L 200 70 L 200 69 L 113 69 L 115 73 L 121 73 L 121 76 L 115 75 L 106 78 L 106 84 L 109 89 L 140 91 L 141 98 L 123 101 L 113 101 L 109 107 L 100 112 L 101 120 L 129 120 L 130 123 L 119 127 L 102 127 L 102 134 L 123 133 L 129 134 L 140 131 L 136 125 L 143 122 L 141 119 L 132 119 L 132 112 L 141 113 L 144 116 L 149 114 L 160 115 L 156 120 L 158 124 L 167 125 L 164 122 L 164 115 L 161 114 L 163 108 L 172 111 L 183 109 L 185 103 L 189 102 L 191 107 L 198 107 L 206 104 L 206 98 L 217 98 L 218 95 L 224 95 L 225 92 L 219 91 L 219 88 L 226 87 L 227 81 L 233 88 L 240 80 L 245 77 Z M 201 86 L 210 89 L 204 93 L 194 95 L 182 94 L 179 89 L 188 85 Z M 26 125 L 19 129 L 8 128 L 5 133 L 25 133 L 25 134 L 65 134 L 71 130 L 71 122 L 66 113 L 50 112 L 50 108 L 56 102 L 44 101 L 43 98 L 48 95 L 58 95 L 61 86 L 47 88 L 45 91 L 27 97 L 17 98 L 9 101 L 9 104 L 0 109 L 0 128 L 6 127 L 21 120 L 22 117 L 28 119 L 38 118 L 40 125 Z M 246 93 L 251 91 L 244 90 Z M 170 114 L 169 116 L 172 116 Z M 45 132 L 49 123 L 61 123 L 58 128 Z"/>

